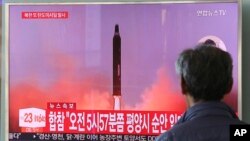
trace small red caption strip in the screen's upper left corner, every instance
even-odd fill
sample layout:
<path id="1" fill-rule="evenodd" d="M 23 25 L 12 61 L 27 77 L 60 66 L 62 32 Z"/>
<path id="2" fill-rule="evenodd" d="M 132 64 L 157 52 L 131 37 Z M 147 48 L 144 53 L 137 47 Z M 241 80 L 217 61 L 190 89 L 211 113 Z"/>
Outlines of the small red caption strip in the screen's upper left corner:
<path id="1" fill-rule="evenodd" d="M 22 19 L 67 19 L 68 11 L 43 11 L 30 12 L 24 11 L 21 13 Z"/>

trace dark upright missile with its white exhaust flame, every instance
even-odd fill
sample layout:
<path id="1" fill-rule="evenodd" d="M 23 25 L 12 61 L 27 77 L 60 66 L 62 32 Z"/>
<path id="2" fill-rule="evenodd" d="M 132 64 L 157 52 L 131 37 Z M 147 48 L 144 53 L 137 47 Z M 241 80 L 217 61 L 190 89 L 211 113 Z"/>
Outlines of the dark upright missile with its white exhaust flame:
<path id="1" fill-rule="evenodd" d="M 115 25 L 113 37 L 113 97 L 114 110 L 121 109 L 121 37 L 119 25 Z"/>

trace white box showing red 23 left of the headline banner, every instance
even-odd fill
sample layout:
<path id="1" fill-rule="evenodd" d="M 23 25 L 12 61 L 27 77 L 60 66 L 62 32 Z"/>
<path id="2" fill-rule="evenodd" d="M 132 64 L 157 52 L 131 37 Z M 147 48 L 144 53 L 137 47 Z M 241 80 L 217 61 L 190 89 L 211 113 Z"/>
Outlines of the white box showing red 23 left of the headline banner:
<path id="1" fill-rule="evenodd" d="M 41 128 L 46 126 L 46 111 L 38 108 L 19 110 L 19 127 Z"/>

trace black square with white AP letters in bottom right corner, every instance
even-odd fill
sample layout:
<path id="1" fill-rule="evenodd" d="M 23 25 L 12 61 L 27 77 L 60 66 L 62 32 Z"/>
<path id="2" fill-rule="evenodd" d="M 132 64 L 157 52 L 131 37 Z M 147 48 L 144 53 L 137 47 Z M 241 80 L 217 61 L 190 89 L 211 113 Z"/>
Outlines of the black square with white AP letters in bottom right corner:
<path id="1" fill-rule="evenodd" d="M 230 141 L 247 141 L 250 137 L 250 125 L 230 125 Z"/>

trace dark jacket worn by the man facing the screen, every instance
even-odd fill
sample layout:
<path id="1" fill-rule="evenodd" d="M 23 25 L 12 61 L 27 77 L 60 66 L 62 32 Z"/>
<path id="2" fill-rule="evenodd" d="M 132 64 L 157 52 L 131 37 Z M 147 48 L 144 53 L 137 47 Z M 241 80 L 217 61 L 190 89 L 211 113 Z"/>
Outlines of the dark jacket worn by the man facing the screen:
<path id="1" fill-rule="evenodd" d="M 229 141 L 229 125 L 244 124 L 223 102 L 204 102 L 186 111 L 156 141 Z"/>

